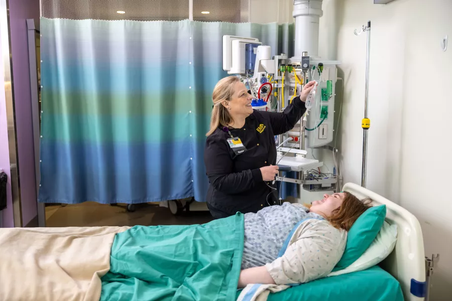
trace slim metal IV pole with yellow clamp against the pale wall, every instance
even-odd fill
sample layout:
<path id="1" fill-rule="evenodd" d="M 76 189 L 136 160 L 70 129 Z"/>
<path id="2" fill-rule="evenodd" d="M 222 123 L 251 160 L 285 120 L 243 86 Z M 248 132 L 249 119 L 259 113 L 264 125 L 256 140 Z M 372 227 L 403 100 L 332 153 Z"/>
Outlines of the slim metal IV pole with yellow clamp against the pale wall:
<path id="1" fill-rule="evenodd" d="M 363 29 L 357 33 L 355 29 L 355 35 L 359 36 L 363 32 L 367 32 L 367 54 L 366 54 L 366 96 L 364 98 L 364 118 L 361 122 L 361 127 L 364 130 L 363 133 L 363 169 L 361 175 L 361 186 L 366 188 L 366 174 L 367 174 L 367 139 L 368 130 L 370 127 L 370 119 L 368 118 L 369 112 L 369 57 L 370 57 L 370 21 L 367 22 L 367 26 L 363 25 Z"/>

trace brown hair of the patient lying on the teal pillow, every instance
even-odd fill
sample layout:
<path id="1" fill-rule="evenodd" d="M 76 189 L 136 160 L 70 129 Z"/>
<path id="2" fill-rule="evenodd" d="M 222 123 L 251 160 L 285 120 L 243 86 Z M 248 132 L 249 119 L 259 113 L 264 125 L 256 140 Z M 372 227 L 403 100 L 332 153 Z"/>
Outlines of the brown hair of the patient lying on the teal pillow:
<path id="1" fill-rule="evenodd" d="M 352 228 L 353 223 L 363 214 L 367 209 L 371 208 L 372 200 L 364 199 L 360 201 L 350 192 L 344 192 L 345 198 L 341 207 L 334 210 L 331 216 L 326 220 L 337 229 L 344 229 L 349 231 Z M 305 204 L 307 208 L 310 208 L 310 204 Z"/>

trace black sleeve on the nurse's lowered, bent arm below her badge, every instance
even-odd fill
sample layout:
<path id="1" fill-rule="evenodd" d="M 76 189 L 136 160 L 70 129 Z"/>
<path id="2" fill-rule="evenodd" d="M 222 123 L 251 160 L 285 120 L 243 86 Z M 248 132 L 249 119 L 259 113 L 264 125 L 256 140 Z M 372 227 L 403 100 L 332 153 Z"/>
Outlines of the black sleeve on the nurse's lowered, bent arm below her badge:
<path id="1" fill-rule="evenodd" d="M 204 149 L 204 164 L 209 182 L 213 187 L 227 194 L 237 194 L 253 188 L 262 182 L 260 169 L 234 173 L 234 162 L 224 137 L 216 134 L 207 137 Z"/>

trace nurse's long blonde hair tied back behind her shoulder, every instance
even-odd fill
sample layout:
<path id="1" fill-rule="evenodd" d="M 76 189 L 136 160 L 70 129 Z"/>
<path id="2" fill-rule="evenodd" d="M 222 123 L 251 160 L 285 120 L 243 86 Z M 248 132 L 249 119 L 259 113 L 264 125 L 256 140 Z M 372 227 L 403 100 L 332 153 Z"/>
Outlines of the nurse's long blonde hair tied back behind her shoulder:
<path id="1" fill-rule="evenodd" d="M 213 109 L 212 116 L 210 117 L 210 129 L 205 134 L 209 136 L 218 128 L 218 126 L 228 126 L 233 119 L 228 110 L 221 105 L 223 100 L 231 100 L 234 93 L 234 84 L 239 82 L 240 79 L 237 76 L 228 76 L 220 79 L 213 88 L 212 101 Z"/>

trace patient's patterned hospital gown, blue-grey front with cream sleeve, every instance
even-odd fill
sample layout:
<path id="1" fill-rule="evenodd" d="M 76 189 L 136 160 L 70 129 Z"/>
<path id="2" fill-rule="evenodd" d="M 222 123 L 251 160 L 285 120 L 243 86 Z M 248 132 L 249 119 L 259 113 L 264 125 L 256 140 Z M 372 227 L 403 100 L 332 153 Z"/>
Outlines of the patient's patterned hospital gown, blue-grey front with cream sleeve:
<path id="1" fill-rule="evenodd" d="M 298 238 L 278 257 L 293 227 L 302 219 Z M 242 269 L 266 265 L 276 284 L 310 281 L 326 276 L 341 259 L 347 232 L 332 227 L 300 204 L 284 203 L 245 214 Z"/>

